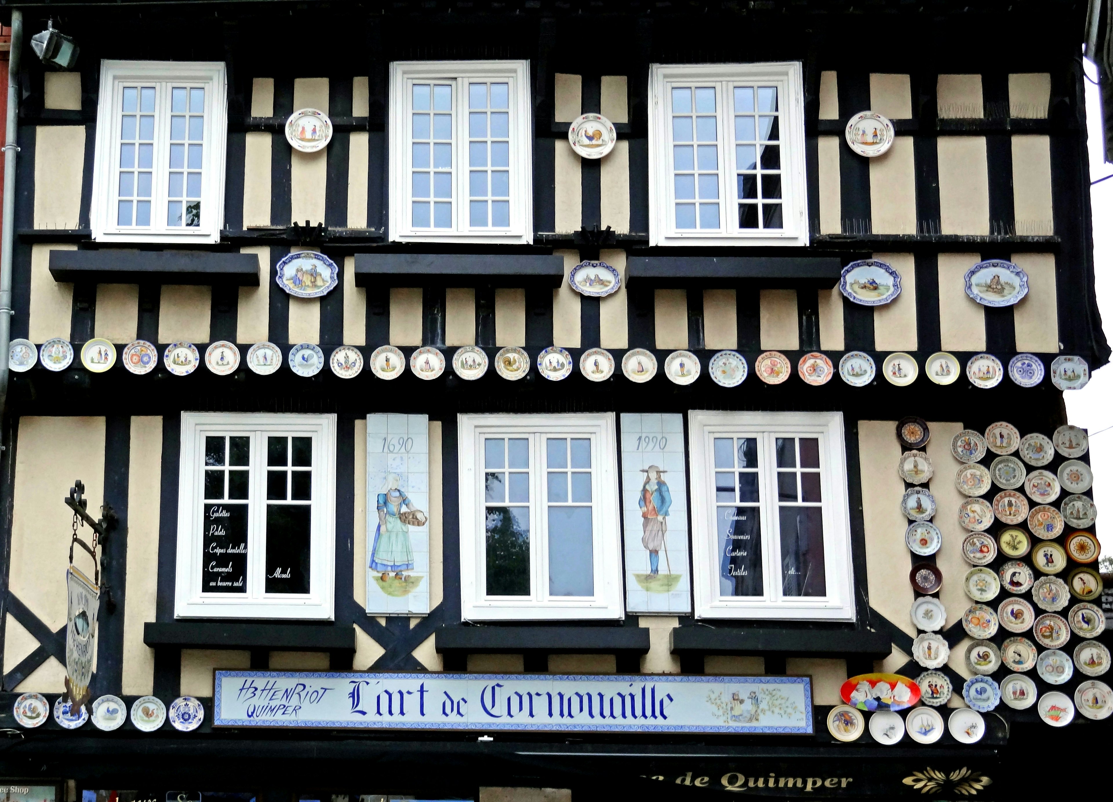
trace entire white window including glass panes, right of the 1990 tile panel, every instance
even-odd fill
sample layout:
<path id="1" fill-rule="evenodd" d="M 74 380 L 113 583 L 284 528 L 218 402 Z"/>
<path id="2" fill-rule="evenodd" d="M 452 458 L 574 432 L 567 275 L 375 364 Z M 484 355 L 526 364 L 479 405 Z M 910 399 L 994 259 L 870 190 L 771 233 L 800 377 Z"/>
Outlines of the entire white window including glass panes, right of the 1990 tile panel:
<path id="1" fill-rule="evenodd" d="M 838 413 L 692 412 L 697 608 L 853 618 Z"/>

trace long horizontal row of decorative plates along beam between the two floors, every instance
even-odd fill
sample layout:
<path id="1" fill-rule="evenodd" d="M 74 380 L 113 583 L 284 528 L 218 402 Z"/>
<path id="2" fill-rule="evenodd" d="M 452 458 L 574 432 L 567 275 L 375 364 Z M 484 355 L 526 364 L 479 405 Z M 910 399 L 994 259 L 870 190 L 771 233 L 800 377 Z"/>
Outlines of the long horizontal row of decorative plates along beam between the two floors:
<path id="1" fill-rule="evenodd" d="M 38 361 L 48 370 L 61 371 L 73 363 L 75 352 L 73 345 L 62 339 L 48 340 L 38 349 L 29 340 L 13 340 L 8 359 L 11 370 L 16 372 L 28 371 Z M 89 340 L 81 346 L 80 359 L 87 370 L 104 373 L 117 362 L 116 346 L 100 338 Z M 282 368 L 284 362 L 282 350 L 274 343 L 255 343 L 246 356 L 242 356 L 236 344 L 226 340 L 210 344 L 204 359 L 193 343 L 170 343 L 161 359 L 166 369 L 175 375 L 188 375 L 203 362 L 217 375 L 234 373 L 242 362 L 253 372 L 267 375 Z M 149 373 L 158 364 L 158 349 L 146 340 L 136 340 L 124 348 L 119 361 L 131 373 Z M 352 379 L 364 369 L 364 355 L 354 345 L 341 345 L 326 359 L 316 344 L 298 343 L 290 349 L 285 361 L 292 371 L 302 376 L 316 375 L 326 364 L 342 379 Z M 495 372 L 510 381 L 525 376 L 532 364 L 530 355 L 513 345 L 501 349 L 494 356 Z M 572 355 L 559 345 L 550 345 L 536 359 L 538 372 L 551 381 L 567 379 L 572 373 L 573 364 Z M 432 345 L 416 349 L 408 360 L 395 346 L 381 345 L 366 359 L 366 365 L 380 379 L 396 379 L 407 365 L 418 379 L 436 379 L 444 373 L 447 360 L 440 349 Z M 659 371 L 657 356 L 646 349 L 627 351 L 618 365 L 611 352 L 601 348 L 588 349 L 579 360 L 580 372 L 591 381 L 610 379 L 617 366 L 627 379 L 638 383 L 649 381 Z M 489 368 L 490 358 L 476 345 L 460 346 L 452 356 L 452 370 L 461 379 L 479 379 Z M 664 375 L 676 384 L 691 384 L 702 372 L 699 358 L 690 351 L 673 351 L 664 359 L 663 369 Z M 719 351 L 708 361 L 708 372 L 717 384 L 732 388 L 746 380 L 750 366 L 737 351 Z M 779 351 L 766 351 L 755 360 L 754 372 L 767 384 L 780 384 L 792 374 L 792 363 Z M 834 378 L 836 368 L 826 354 L 812 351 L 799 359 L 796 372 L 806 384 L 818 387 Z M 850 351 L 839 360 L 837 372 L 847 384 L 865 387 L 877 378 L 878 371 L 869 354 Z M 890 384 L 907 387 L 916 381 L 920 369 L 912 354 L 896 352 L 883 360 L 880 372 Z M 936 384 L 952 384 L 963 373 L 958 359 L 946 351 L 928 356 L 924 372 Z M 1017 385 L 1032 388 L 1044 380 L 1045 369 L 1040 358 L 1031 353 L 1016 354 L 1009 360 L 1007 369 L 989 353 L 975 354 L 966 363 L 966 378 L 978 388 L 996 387 L 1006 373 Z M 1090 366 L 1081 356 L 1056 356 L 1051 364 L 1051 380 L 1060 390 L 1081 389 L 1090 381 Z"/>

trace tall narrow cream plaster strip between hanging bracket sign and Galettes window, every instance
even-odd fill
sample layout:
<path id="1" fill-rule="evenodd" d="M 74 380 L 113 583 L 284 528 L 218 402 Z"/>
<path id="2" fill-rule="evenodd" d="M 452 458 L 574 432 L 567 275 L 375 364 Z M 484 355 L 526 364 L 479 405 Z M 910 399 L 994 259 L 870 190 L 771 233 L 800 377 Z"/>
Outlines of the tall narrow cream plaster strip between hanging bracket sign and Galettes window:
<path id="1" fill-rule="evenodd" d="M 124 693 L 154 693 L 155 649 L 144 643 L 142 627 L 155 620 L 158 596 L 158 528 L 162 476 L 162 419 L 131 419 L 128 458 L 127 594 L 124 596 Z"/>

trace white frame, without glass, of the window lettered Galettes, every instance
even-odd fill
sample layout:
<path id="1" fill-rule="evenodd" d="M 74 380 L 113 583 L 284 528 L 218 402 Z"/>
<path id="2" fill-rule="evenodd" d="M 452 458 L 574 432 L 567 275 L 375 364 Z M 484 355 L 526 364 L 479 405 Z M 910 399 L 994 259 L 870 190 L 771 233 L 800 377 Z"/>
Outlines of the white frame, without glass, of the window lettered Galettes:
<path id="1" fill-rule="evenodd" d="M 253 509 L 248 514 L 248 593 L 201 594 L 205 437 L 258 432 L 253 471 L 262 478 L 253 483 Z M 266 436 L 313 436 L 313 512 L 309 547 L 308 595 L 267 596 L 253 587 L 265 573 Z M 263 498 L 259 498 L 263 495 Z M 333 620 L 336 551 L 336 415 L 242 412 L 183 412 L 181 454 L 178 472 L 178 552 L 175 616 L 178 618 L 299 618 Z M 253 580 L 253 577 L 256 579 Z M 260 583 L 259 583 L 260 584 Z M 240 598 L 240 596 L 243 596 Z"/>

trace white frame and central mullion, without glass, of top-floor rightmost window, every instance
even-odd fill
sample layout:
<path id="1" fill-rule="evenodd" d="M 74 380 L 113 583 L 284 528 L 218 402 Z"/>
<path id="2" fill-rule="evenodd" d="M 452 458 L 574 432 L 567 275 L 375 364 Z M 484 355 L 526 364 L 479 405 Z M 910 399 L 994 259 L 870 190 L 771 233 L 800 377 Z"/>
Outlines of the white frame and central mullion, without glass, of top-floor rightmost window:
<path id="1" fill-rule="evenodd" d="M 650 245 L 785 245 L 808 244 L 808 196 L 804 138 L 804 69 L 799 61 L 737 65 L 651 65 L 652 98 L 649 125 L 649 241 Z M 780 90 L 781 195 L 785 227 L 780 232 L 738 228 L 738 187 L 735 178 L 731 82 L 760 81 Z M 719 197 L 722 226 L 718 232 L 678 231 L 673 212 L 672 135 L 670 94 L 672 82 L 720 85 Z"/>

